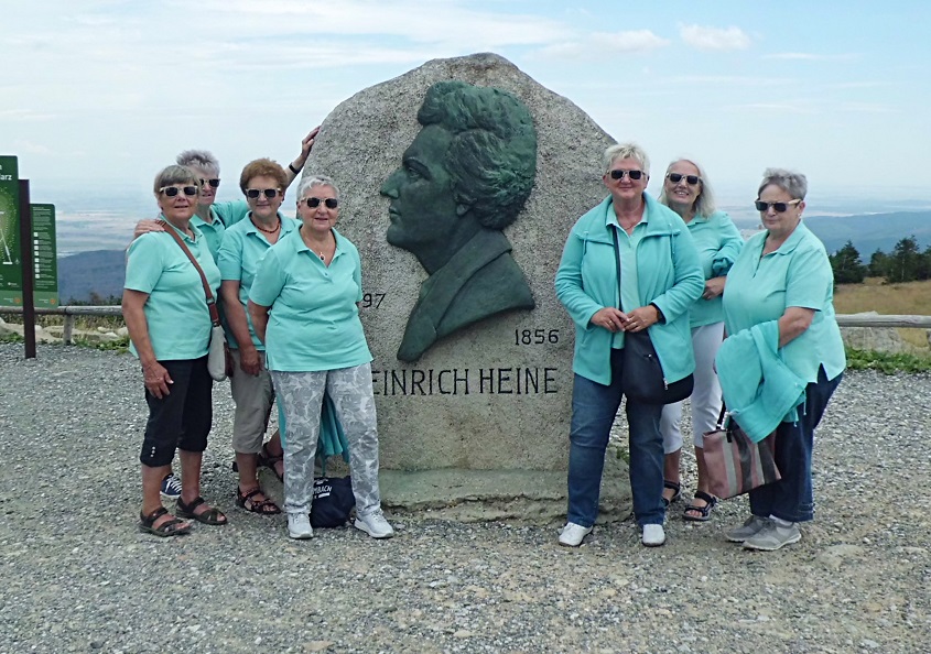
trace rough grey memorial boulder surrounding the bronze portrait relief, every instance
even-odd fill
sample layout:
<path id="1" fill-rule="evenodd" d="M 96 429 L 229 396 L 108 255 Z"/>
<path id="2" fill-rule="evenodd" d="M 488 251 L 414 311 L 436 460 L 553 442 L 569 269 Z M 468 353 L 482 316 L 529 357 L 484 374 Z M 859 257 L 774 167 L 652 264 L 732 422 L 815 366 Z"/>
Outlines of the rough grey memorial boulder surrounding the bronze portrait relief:
<path id="1" fill-rule="evenodd" d="M 386 242 L 388 198 L 379 188 L 421 129 L 416 111 L 426 89 L 444 79 L 510 91 L 533 116 L 535 186 L 505 235 L 537 308 L 472 325 L 403 363 L 398 346 L 426 273 L 410 252 Z M 429 62 L 353 96 L 323 122 L 304 174 L 336 181 L 337 229 L 362 257 L 364 293 L 371 296 L 361 318 L 375 357 L 382 468 L 565 469 L 574 336 L 553 279 L 572 225 L 606 195 L 600 156 L 611 142 L 570 100 L 494 54 Z M 441 371 L 450 372 L 440 379 Z"/>

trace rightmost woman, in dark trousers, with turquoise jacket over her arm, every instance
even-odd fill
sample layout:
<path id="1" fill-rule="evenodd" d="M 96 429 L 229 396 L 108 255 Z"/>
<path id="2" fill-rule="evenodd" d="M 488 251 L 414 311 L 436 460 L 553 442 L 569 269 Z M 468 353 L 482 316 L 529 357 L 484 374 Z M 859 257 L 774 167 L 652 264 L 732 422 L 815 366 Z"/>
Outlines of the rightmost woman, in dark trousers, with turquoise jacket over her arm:
<path id="1" fill-rule="evenodd" d="M 846 366 L 834 317 L 831 263 L 824 246 L 802 222 L 806 193 L 804 175 L 781 168 L 764 173 L 756 200 L 764 230 L 744 246 L 724 293 L 727 334 L 775 323 L 779 358 L 806 384 L 804 406 L 776 429 L 782 479 L 750 491 L 750 517 L 727 534 L 728 541 L 748 549 L 797 543 L 802 537 L 799 523 L 813 519 L 814 429 Z M 740 371 L 718 364 L 717 374 L 726 390 L 728 375 Z M 740 423 L 739 415 L 734 417 Z"/>

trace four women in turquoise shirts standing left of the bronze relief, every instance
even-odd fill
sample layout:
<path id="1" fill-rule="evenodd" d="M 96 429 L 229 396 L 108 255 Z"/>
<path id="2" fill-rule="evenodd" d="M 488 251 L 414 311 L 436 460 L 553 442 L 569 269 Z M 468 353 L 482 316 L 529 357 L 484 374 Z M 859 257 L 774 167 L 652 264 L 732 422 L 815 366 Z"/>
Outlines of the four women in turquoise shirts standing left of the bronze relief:
<path id="1" fill-rule="evenodd" d="M 313 536 L 314 456 L 326 392 L 349 443 L 355 526 L 375 538 L 393 535 L 378 488 L 371 355 L 357 306 L 360 260 L 334 228 L 339 192 L 327 177 L 305 177 L 297 190 L 300 219 L 280 211 L 316 133 L 303 141 L 301 156 L 286 170 L 268 159 L 249 163 L 239 178 L 245 201 L 214 203 L 219 166 L 207 152 L 182 153 L 178 160 L 186 165 L 169 166 L 156 176 L 160 221 L 137 226 L 123 292 L 150 410 L 140 456 L 143 532 L 177 536 L 191 531 L 191 521 L 228 522 L 199 493 L 213 418 L 209 293 L 224 309 L 236 364 L 230 384 L 237 504 L 260 515 L 281 513 L 259 483 L 257 469 L 268 465 L 283 478 L 289 535 Z M 284 435 L 263 444 L 275 396 Z M 172 514 L 162 505 L 160 484 L 171 472 L 175 449 L 182 488 Z M 282 458 L 283 469 L 277 468 Z"/>

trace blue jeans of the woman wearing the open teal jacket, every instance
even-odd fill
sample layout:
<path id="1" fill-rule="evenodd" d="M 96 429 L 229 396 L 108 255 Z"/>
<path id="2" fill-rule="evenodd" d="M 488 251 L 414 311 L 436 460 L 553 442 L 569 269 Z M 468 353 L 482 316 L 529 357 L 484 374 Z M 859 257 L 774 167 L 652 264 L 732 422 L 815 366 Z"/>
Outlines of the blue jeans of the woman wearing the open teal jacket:
<path id="1" fill-rule="evenodd" d="M 569 447 L 567 521 L 592 526 L 598 516 L 598 497 L 605 469 L 608 436 L 620 406 L 623 350 L 611 350 L 611 383 L 599 384 L 575 375 L 572 385 L 572 426 Z M 662 404 L 627 401 L 630 448 L 630 490 L 637 524 L 662 524 Z"/>

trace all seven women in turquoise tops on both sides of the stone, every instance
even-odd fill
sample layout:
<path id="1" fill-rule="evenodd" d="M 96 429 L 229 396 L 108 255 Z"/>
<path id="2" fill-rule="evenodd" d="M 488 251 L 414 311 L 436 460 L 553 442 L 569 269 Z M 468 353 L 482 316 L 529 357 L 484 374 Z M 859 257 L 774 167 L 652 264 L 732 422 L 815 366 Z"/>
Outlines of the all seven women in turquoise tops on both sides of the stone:
<path id="1" fill-rule="evenodd" d="M 191 520 L 227 523 L 201 497 L 198 483 L 212 422 L 208 287 L 221 299 L 236 362 L 238 505 L 261 515 L 281 512 L 262 490 L 257 468 L 274 465 L 283 449 L 289 535 L 313 535 L 314 455 L 328 395 L 349 440 L 355 526 L 376 538 L 393 534 L 380 508 L 372 357 L 358 317 L 360 258 L 335 229 L 339 190 L 328 177 L 305 176 L 299 218 L 280 211 L 315 135 L 316 130 L 304 140 L 297 165 L 286 171 L 267 159 L 248 164 L 239 181 L 245 203 L 214 203 L 219 167 L 209 153 L 183 153 L 186 166 L 169 166 L 156 176 L 163 222 L 140 224 L 123 296 L 150 407 L 140 456 L 145 532 L 174 536 L 187 533 Z M 592 532 L 608 437 L 624 399 L 625 337 L 641 331 L 668 382 L 694 375 L 699 473 L 685 520 L 708 520 L 717 503 L 702 434 L 717 423 L 728 381 L 743 383 L 741 358 L 778 358 L 804 389 L 799 406 L 776 416 L 782 479 L 751 491 L 751 515 L 727 534 L 751 549 L 798 542 L 799 523 L 813 515 L 814 429 L 845 366 L 827 255 L 801 221 L 805 177 L 766 171 L 756 200 L 764 229 L 744 243 L 716 209 L 696 162 L 670 164 L 658 199 L 646 192 L 650 162 L 636 144 L 608 148 L 603 163 L 608 196 L 575 222 L 555 275 L 556 295 L 576 326 L 569 511 L 559 543 L 578 546 Z M 744 338 L 751 330 L 769 334 L 768 345 L 748 347 L 761 342 Z M 283 448 L 277 439 L 262 444 L 275 397 L 285 425 Z M 667 509 L 681 495 L 682 403 L 627 399 L 625 411 L 635 519 L 642 544 L 659 546 L 665 542 Z M 184 482 L 172 514 L 159 489 L 176 448 Z"/>

